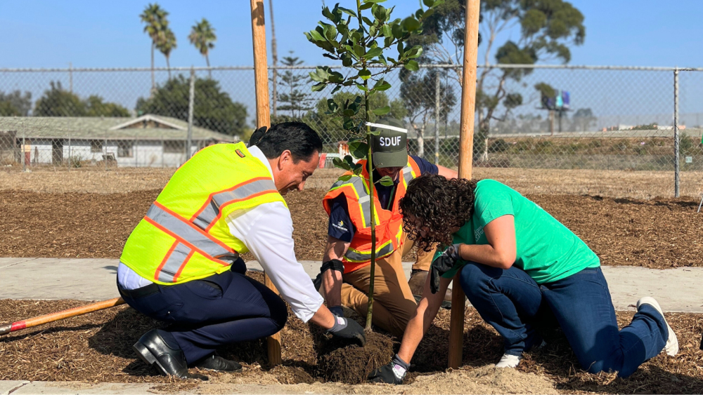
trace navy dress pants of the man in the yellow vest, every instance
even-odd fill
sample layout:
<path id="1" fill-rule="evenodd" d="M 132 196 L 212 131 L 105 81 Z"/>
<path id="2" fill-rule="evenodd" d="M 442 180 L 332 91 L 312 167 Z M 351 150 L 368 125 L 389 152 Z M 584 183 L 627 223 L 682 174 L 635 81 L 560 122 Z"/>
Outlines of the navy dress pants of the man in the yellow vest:
<path id="1" fill-rule="evenodd" d="M 224 344 L 273 335 L 285 326 L 285 302 L 245 271 L 240 259 L 221 274 L 159 285 L 158 292 L 143 297 L 122 297 L 136 311 L 169 323 L 164 330 L 193 363 Z"/>

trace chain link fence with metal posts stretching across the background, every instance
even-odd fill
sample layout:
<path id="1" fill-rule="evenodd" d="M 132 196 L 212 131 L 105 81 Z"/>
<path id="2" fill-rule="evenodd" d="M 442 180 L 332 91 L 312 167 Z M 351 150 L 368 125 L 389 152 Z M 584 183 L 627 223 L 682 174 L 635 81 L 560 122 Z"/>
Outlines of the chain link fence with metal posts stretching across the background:
<path id="1" fill-rule="evenodd" d="M 309 123 L 323 137 L 325 152 L 335 154 L 347 136 L 340 120 L 327 114 L 329 89 L 310 90 L 313 70 L 269 70 L 276 81 L 275 91 L 269 84 L 271 121 Z M 576 170 L 588 170 L 596 179 L 651 173 L 668 180 L 666 195 L 678 196 L 680 187 L 698 194 L 703 189 L 695 185 L 703 174 L 701 71 L 479 67 L 474 166 L 531 169 L 524 173 L 549 172 L 552 178 Z M 371 105 L 389 105 L 389 115 L 407 123 L 412 154 L 454 167 L 460 74 L 456 65 L 389 73 L 385 79 L 392 88 L 375 95 Z M 253 77 L 252 67 L 0 69 L 0 166 L 180 166 L 207 145 L 248 140 L 255 122 Z M 340 91 L 335 98 L 353 95 Z"/>

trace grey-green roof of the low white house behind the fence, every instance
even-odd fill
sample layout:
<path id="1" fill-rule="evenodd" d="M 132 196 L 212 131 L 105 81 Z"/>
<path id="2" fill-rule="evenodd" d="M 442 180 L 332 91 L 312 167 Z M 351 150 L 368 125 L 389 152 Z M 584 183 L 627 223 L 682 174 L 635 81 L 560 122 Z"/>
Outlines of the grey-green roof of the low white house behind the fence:
<path id="1" fill-rule="evenodd" d="M 0 116 L 0 132 L 26 138 L 186 140 L 188 122 L 147 114 L 138 118 L 97 116 Z M 234 141 L 233 136 L 193 126 L 193 140 Z"/>

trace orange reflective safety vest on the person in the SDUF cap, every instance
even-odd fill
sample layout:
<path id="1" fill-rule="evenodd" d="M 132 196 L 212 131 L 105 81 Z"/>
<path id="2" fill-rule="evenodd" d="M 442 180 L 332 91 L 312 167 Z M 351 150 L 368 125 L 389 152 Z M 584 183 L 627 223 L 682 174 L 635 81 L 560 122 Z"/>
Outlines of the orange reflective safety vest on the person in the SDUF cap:
<path id="1" fill-rule="evenodd" d="M 322 204 L 330 215 L 333 199 L 344 195 L 347 198 L 349 217 L 354 223 L 354 238 L 349 244 L 347 253 L 344 254 L 344 273 L 354 272 L 370 264 L 371 261 L 371 210 L 368 185 L 368 170 L 366 161 L 359 161 L 363 165 L 361 176 L 347 172 L 332 185 L 325 194 Z M 352 178 L 344 181 L 345 176 Z M 381 208 L 378 194 L 374 190 L 374 208 L 376 225 L 376 258 L 387 257 L 401 247 L 403 242 L 403 216 L 398 208 L 398 202 L 405 196 L 408 182 L 420 176 L 420 168 L 408 156 L 408 164 L 401 170 L 400 180 L 396 186 L 390 210 Z"/>

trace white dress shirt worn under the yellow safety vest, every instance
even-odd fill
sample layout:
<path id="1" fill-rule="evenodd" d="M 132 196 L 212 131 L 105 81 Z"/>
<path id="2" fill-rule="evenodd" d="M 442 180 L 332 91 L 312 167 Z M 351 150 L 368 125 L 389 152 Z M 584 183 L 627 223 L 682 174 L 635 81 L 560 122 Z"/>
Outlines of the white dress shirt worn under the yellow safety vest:
<path id="1" fill-rule="evenodd" d="M 269 160 L 258 147 L 248 148 L 271 173 Z M 295 316 L 307 322 L 323 303 L 308 274 L 295 259 L 293 221 L 290 211 L 280 201 L 259 204 L 249 210 L 228 215 L 225 222 L 232 236 L 245 243 L 259 264 L 264 267 L 273 285 L 285 299 Z M 152 283 L 120 262 L 117 281 L 124 289 L 136 289 Z"/>

